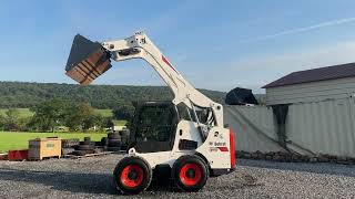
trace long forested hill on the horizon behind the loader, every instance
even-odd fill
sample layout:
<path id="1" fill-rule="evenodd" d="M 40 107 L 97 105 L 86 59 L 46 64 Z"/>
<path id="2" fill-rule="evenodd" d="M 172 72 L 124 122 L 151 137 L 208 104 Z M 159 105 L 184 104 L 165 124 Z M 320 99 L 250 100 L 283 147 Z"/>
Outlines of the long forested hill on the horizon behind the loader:
<path id="1" fill-rule="evenodd" d="M 212 100 L 224 103 L 225 93 L 200 90 Z M 169 101 L 166 86 L 90 85 L 57 83 L 0 82 L 0 108 L 26 108 L 43 101 L 59 98 L 70 103 L 88 102 L 95 108 L 114 108 L 132 101 Z"/>

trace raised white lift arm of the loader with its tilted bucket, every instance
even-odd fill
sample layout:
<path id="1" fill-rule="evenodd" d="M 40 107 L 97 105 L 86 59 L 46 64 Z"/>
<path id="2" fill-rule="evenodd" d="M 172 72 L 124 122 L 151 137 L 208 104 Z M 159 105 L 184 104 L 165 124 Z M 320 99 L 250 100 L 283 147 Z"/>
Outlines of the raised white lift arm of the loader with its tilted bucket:
<path id="1" fill-rule="evenodd" d="M 98 42 L 92 43 L 92 45 L 98 45 Z M 74 48 L 73 43 L 71 55 L 74 53 Z M 174 93 L 173 104 L 178 105 L 184 103 L 190 108 L 211 108 L 215 117 L 215 125 L 223 126 L 223 106 L 194 88 L 143 32 L 138 32 L 123 40 L 103 42 L 102 48 L 103 49 L 95 51 L 91 57 L 80 63 L 71 62 L 70 55 L 67 63 L 67 74 L 81 84 L 89 84 L 92 80 L 111 67 L 110 63 L 108 63 L 109 57 L 102 59 L 102 56 L 110 56 L 110 59 L 116 62 L 131 59 L 143 59 L 158 72 Z M 105 52 L 110 53 L 104 55 Z M 78 67 L 80 67 L 80 70 L 78 70 Z M 81 72 L 84 78 L 80 78 L 79 81 L 77 75 L 78 72 Z"/>

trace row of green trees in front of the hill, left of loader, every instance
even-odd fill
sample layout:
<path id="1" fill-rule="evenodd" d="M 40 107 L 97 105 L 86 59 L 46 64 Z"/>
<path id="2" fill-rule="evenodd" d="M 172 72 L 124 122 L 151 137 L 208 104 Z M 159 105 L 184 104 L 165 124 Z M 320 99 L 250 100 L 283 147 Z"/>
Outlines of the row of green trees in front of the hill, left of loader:
<path id="1" fill-rule="evenodd" d="M 17 132 L 54 132 L 58 127 L 71 132 L 100 130 L 112 126 L 111 117 L 94 112 L 89 103 L 72 104 L 50 100 L 30 108 L 33 116 L 23 117 L 16 108 L 0 115 L 0 129 Z M 58 130 L 58 129 L 57 129 Z"/>

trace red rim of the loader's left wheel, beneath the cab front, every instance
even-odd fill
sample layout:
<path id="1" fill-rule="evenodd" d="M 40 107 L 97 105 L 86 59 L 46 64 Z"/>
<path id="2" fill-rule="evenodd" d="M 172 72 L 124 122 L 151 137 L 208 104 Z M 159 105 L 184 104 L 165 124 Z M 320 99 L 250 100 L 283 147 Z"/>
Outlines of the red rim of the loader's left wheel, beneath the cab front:
<path id="1" fill-rule="evenodd" d="M 138 165 L 128 165 L 121 172 L 122 185 L 133 188 L 143 181 L 143 169 Z"/>

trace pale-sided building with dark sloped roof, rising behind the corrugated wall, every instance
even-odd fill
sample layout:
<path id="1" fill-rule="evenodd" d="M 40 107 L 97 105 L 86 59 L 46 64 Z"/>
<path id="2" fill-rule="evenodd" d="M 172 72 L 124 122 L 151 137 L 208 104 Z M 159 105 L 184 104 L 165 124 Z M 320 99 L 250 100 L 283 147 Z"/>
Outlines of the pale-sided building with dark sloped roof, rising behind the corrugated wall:
<path id="1" fill-rule="evenodd" d="M 355 63 L 291 73 L 266 88 L 266 104 L 345 98 L 355 93 Z"/>

